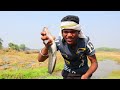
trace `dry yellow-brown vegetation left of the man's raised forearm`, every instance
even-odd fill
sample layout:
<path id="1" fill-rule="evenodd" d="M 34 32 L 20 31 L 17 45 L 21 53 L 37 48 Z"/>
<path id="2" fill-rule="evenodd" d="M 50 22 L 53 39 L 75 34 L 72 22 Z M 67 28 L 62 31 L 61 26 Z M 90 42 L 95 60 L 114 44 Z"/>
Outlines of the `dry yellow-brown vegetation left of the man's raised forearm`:
<path id="1" fill-rule="evenodd" d="M 39 67 L 37 61 L 38 53 L 35 51 L 18 52 L 14 50 L 0 51 L 0 70 L 35 68 Z"/>

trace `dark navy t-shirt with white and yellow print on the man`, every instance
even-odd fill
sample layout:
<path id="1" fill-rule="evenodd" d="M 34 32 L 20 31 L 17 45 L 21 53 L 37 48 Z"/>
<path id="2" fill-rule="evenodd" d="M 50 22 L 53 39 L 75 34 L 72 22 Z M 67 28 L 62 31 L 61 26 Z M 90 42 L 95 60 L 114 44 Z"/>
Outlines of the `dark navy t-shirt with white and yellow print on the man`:
<path id="1" fill-rule="evenodd" d="M 94 46 L 89 37 L 78 38 L 75 48 L 71 48 L 71 46 L 60 37 L 56 39 L 55 42 L 57 50 L 60 51 L 64 58 L 64 72 L 72 73 L 73 75 L 82 75 L 89 69 L 87 55 L 94 55 L 95 53 Z"/>

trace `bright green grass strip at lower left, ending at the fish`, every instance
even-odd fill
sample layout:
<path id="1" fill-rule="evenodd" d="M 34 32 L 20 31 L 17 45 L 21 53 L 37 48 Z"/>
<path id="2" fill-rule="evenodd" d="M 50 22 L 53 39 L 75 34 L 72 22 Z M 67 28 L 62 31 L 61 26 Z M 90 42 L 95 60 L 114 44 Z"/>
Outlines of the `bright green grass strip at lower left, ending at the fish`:
<path id="1" fill-rule="evenodd" d="M 0 79 L 31 79 L 38 76 L 46 76 L 47 68 L 4 70 L 0 73 Z"/>

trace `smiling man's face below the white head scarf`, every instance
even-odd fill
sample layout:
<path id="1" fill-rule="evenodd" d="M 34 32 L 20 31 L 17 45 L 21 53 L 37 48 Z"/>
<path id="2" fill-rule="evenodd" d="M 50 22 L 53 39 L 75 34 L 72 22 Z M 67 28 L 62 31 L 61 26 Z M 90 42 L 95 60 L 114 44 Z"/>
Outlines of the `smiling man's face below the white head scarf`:
<path id="1" fill-rule="evenodd" d="M 63 29 L 62 30 L 63 38 L 70 45 L 74 45 L 77 43 L 78 35 L 79 35 L 79 31 L 77 31 L 77 30 L 72 30 L 72 29 Z"/>

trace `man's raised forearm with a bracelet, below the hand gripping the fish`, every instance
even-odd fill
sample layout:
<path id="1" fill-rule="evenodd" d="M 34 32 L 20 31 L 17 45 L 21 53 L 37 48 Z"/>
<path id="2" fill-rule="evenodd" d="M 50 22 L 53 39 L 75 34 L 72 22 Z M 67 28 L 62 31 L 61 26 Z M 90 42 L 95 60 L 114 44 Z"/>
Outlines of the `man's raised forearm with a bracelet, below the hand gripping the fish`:
<path id="1" fill-rule="evenodd" d="M 39 55 L 38 55 L 38 61 L 43 62 L 48 58 L 48 48 L 44 47 L 41 49 Z"/>

